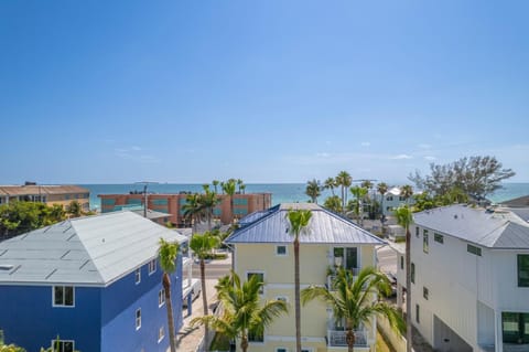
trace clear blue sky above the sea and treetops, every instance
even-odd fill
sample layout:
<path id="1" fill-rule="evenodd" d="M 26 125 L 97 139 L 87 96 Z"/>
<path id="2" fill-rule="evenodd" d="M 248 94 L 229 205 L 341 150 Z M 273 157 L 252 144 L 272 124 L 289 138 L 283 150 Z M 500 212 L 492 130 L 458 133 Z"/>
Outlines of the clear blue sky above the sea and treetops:
<path id="1" fill-rule="evenodd" d="M 1 1 L 0 183 L 529 182 L 527 1 Z"/>

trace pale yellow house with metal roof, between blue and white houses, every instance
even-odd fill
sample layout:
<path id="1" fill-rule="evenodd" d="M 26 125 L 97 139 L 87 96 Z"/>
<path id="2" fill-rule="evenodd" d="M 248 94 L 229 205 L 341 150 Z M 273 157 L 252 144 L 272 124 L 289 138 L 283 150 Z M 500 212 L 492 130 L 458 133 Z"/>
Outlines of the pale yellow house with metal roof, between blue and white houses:
<path id="1" fill-rule="evenodd" d="M 293 237 L 285 217 L 291 209 L 312 212 L 306 234 L 300 235 L 301 289 L 310 285 L 328 287 L 335 266 L 354 274 L 366 266 L 375 267 L 375 247 L 385 244 L 349 220 L 313 203 L 284 203 L 241 218 L 240 228 L 225 241 L 234 248 L 235 271 L 244 279 L 252 275 L 262 279 L 263 301 L 282 299 L 289 306 L 288 316 L 276 319 L 263 335 L 250 337 L 253 352 L 295 351 Z M 302 306 L 302 351 L 347 351 L 344 327 L 325 302 L 313 300 Z M 376 318 L 355 335 L 355 351 L 373 351 Z"/>

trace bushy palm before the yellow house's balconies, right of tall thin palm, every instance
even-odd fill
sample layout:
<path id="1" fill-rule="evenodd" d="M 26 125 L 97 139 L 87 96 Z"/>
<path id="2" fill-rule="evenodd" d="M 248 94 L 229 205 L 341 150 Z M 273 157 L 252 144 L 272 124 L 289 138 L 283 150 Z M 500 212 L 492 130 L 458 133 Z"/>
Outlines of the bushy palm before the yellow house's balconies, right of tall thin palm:
<path id="1" fill-rule="evenodd" d="M 355 330 L 364 323 L 373 323 L 373 317 L 382 316 L 388 318 L 390 324 L 403 331 L 406 326 L 399 311 L 378 296 L 388 296 L 391 291 L 391 284 L 386 275 L 373 267 L 360 270 L 355 280 L 353 273 L 341 268 L 333 282 L 335 290 L 327 287 L 310 286 L 301 292 L 303 305 L 320 299 L 326 302 L 334 311 L 336 321 L 345 321 L 345 341 L 348 352 L 354 351 Z"/>

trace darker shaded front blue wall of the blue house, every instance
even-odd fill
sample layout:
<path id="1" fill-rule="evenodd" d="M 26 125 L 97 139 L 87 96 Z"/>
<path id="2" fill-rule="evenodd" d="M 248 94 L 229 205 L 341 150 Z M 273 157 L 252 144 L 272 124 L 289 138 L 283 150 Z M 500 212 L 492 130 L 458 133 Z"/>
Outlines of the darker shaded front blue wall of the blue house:
<path id="1" fill-rule="evenodd" d="M 53 307 L 51 286 L 0 287 L 0 329 L 6 342 L 28 352 L 50 346 L 57 335 L 76 350 L 99 351 L 100 288 L 75 288 L 75 307 Z"/>

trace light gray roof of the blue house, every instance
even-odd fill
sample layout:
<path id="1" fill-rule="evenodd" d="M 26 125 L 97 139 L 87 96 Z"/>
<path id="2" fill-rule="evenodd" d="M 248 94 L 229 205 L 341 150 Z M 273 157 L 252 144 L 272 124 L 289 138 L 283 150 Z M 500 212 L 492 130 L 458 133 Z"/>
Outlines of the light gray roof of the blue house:
<path id="1" fill-rule="evenodd" d="M 0 243 L 0 285 L 108 286 L 186 238 L 132 212 L 68 220 Z"/>

